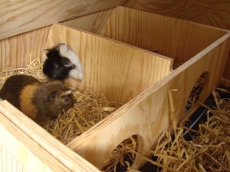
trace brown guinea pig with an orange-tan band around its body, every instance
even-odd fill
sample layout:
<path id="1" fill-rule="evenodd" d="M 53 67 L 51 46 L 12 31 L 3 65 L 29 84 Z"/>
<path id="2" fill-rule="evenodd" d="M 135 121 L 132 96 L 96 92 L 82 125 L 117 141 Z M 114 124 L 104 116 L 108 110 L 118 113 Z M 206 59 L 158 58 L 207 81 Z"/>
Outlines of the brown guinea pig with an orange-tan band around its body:
<path id="1" fill-rule="evenodd" d="M 14 75 L 4 83 L 0 98 L 9 101 L 39 125 L 45 125 L 73 107 L 75 98 L 61 81 L 39 82 L 32 76 Z"/>

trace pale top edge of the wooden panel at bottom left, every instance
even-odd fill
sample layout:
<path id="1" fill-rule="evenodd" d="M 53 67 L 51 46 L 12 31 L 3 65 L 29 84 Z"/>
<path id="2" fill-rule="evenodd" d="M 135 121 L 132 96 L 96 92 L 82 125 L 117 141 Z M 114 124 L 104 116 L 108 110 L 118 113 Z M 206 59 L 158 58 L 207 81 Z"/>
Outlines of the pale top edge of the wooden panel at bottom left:
<path id="1" fill-rule="evenodd" d="M 47 151 L 69 171 L 99 171 L 84 158 L 68 149 L 43 128 L 25 116 L 7 101 L 0 102 L 0 113 L 9 119 L 19 130 Z"/>

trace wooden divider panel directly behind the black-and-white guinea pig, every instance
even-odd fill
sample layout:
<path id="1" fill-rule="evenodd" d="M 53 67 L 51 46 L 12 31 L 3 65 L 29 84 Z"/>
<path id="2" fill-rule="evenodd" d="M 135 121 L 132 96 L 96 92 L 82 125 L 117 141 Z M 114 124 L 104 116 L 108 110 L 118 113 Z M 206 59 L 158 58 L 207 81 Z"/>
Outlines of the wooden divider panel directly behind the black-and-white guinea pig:
<path id="1" fill-rule="evenodd" d="M 168 75 L 173 63 L 172 59 L 149 51 L 55 24 L 46 48 L 60 42 L 70 45 L 81 59 L 84 76 L 80 86 L 120 103 Z"/>

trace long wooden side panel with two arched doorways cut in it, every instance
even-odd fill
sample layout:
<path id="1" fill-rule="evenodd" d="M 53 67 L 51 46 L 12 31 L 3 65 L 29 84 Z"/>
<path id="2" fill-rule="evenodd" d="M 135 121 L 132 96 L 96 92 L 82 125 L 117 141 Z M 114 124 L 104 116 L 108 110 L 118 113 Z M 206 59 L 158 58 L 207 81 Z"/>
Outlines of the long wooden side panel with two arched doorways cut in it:
<path id="1" fill-rule="evenodd" d="M 230 45 L 229 37 L 230 33 L 227 33 L 215 41 L 67 146 L 101 168 L 118 144 L 136 134 L 141 138 L 139 153 L 148 156 L 158 136 L 174 122 L 178 124 L 185 118 L 186 102 L 197 79 L 204 72 L 208 73 L 207 87 L 202 90 L 204 97 L 199 101 L 207 98 L 212 88 L 219 84 Z M 173 94 L 174 111 L 168 98 L 170 90 L 176 90 Z M 138 169 L 144 163 L 141 157 L 137 157 L 133 168 Z"/>

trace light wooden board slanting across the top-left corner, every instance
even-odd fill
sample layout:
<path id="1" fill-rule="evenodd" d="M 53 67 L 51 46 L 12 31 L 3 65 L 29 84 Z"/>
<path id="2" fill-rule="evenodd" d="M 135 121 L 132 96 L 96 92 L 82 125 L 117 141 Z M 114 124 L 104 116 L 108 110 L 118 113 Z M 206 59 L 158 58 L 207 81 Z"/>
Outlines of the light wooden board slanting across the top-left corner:
<path id="1" fill-rule="evenodd" d="M 0 2 L 0 40 L 121 5 L 125 0 L 30 0 Z"/>

